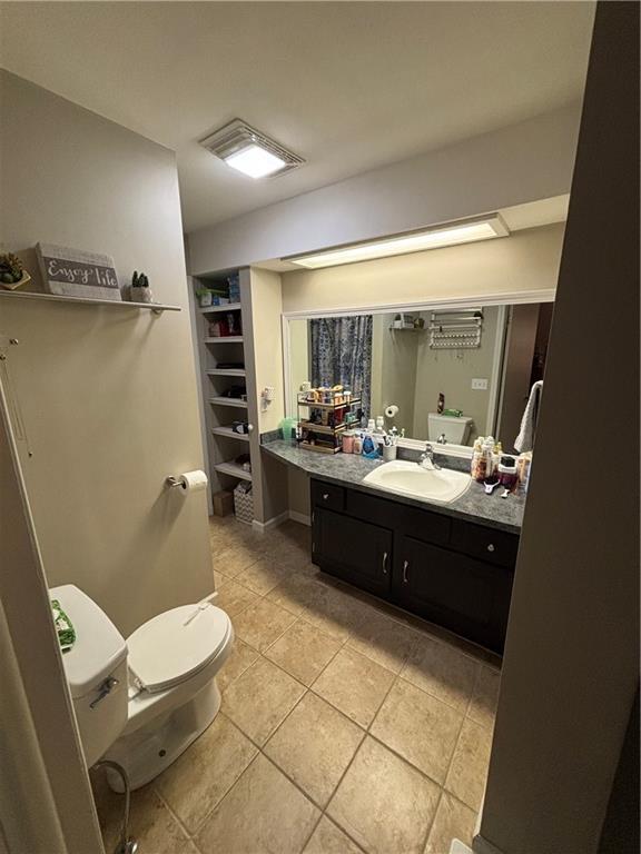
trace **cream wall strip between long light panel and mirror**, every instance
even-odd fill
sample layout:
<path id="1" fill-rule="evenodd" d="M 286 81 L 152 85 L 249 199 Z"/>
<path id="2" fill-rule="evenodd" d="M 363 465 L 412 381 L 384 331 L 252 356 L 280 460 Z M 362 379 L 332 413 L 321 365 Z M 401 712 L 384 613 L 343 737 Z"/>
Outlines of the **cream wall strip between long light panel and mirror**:
<path id="1" fill-rule="evenodd" d="M 554 290 L 563 224 L 396 258 L 282 274 L 283 310 L 368 308 Z"/>

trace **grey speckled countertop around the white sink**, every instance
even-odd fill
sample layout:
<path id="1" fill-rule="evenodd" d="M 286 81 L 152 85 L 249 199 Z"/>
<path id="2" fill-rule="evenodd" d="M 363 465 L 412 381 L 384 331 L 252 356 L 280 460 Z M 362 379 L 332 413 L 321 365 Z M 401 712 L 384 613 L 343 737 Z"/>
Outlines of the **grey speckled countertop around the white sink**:
<path id="1" fill-rule="evenodd" d="M 501 498 L 503 491 L 497 487 L 493 495 L 485 495 L 483 486 L 471 484 L 470 488 L 461 498 L 451 504 L 440 504 L 427 499 L 412 498 L 404 495 L 396 495 L 375 486 L 364 484 L 363 478 L 372 471 L 373 468 L 382 465 L 383 460 L 372 460 L 355 454 L 317 454 L 314 450 L 298 448 L 290 441 L 276 439 L 262 445 L 263 451 L 276 457 L 283 463 L 296 468 L 303 469 L 308 475 L 327 480 L 333 484 L 346 484 L 354 489 L 365 493 L 375 493 L 382 498 L 408 504 L 413 507 L 431 507 L 437 513 L 446 516 L 454 516 L 466 522 L 475 522 L 480 525 L 486 525 L 491 528 L 507 530 L 512 534 L 521 533 L 523 522 L 523 509 L 525 507 L 525 496 L 523 493 L 510 495 L 507 498 Z M 461 468 L 460 460 L 447 456 L 437 456 L 438 463 L 443 468 Z M 448 465 L 448 461 L 452 465 Z"/>

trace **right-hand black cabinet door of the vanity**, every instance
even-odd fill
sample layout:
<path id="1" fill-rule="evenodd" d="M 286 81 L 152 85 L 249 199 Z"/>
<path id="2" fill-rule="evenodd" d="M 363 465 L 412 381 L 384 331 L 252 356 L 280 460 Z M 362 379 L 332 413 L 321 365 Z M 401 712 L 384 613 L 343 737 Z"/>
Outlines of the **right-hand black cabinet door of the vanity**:
<path id="1" fill-rule="evenodd" d="M 394 592 L 408 610 L 503 652 L 512 592 L 509 569 L 402 536 Z"/>

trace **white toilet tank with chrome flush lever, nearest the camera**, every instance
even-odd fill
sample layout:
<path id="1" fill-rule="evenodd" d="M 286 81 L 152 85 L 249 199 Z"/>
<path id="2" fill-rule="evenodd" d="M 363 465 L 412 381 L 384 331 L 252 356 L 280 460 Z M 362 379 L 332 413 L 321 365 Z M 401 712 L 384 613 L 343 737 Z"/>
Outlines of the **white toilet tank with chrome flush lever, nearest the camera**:
<path id="1" fill-rule="evenodd" d="M 127 644 L 107 614 L 72 584 L 52 587 L 76 629 L 76 643 L 62 664 L 90 768 L 127 724 Z"/>

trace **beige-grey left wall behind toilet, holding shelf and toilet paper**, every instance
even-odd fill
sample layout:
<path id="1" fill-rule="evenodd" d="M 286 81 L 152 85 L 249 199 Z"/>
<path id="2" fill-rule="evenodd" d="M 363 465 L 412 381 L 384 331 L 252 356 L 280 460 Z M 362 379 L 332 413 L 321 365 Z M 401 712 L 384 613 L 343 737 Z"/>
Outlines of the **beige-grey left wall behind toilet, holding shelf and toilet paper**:
<path id="1" fill-rule="evenodd" d="M 121 281 L 142 269 L 183 308 L 0 301 L 0 332 L 20 340 L 9 364 L 47 578 L 78 584 L 129 634 L 213 589 L 206 495 L 164 488 L 203 467 L 175 157 L 7 72 L 0 97 L 3 244 L 106 252 Z"/>

